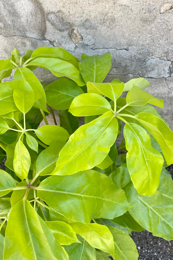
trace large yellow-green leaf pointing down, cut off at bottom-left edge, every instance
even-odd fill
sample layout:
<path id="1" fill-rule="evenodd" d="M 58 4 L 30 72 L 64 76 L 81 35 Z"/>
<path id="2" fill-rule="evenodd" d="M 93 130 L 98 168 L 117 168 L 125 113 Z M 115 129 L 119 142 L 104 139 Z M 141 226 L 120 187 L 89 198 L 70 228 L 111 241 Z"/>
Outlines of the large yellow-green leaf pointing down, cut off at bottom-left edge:
<path id="1" fill-rule="evenodd" d="M 4 259 L 67 259 L 28 200 L 20 200 L 12 208 L 5 232 Z"/>

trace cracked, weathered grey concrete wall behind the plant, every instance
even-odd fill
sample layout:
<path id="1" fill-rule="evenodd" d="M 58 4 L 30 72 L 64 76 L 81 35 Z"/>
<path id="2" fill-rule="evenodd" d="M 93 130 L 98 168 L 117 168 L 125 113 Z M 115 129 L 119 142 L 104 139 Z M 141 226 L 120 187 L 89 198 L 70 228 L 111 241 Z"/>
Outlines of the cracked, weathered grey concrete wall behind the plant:
<path id="1" fill-rule="evenodd" d="M 21 54 L 42 46 L 82 52 L 109 52 L 106 77 L 122 81 L 145 77 L 146 91 L 163 98 L 158 109 L 173 130 L 173 2 L 160 0 L 0 0 L 0 58 L 13 48 Z M 36 69 L 46 82 L 54 76 Z"/>

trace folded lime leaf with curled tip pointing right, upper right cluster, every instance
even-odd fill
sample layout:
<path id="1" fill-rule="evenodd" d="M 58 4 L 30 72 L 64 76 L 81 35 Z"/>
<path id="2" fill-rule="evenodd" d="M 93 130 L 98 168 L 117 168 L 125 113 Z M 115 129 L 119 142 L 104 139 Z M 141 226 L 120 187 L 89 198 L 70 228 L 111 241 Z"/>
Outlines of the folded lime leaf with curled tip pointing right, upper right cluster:
<path id="1" fill-rule="evenodd" d="M 163 108 L 163 100 L 133 86 L 127 93 L 126 101 L 129 106 L 143 106 L 146 103 Z"/>

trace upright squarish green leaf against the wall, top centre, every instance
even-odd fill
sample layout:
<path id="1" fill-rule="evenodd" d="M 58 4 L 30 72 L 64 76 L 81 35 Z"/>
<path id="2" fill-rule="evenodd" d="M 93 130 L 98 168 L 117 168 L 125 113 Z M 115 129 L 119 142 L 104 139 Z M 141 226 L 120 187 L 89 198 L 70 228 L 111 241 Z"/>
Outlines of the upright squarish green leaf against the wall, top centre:
<path id="1" fill-rule="evenodd" d="M 110 53 L 103 55 L 81 55 L 79 70 L 85 82 L 102 82 L 111 68 Z"/>

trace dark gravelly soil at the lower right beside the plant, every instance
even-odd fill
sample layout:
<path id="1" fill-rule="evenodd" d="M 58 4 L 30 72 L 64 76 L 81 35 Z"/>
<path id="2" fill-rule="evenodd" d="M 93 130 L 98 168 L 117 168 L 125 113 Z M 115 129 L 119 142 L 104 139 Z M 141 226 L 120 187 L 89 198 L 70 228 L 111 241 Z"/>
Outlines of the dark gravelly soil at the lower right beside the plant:
<path id="1" fill-rule="evenodd" d="M 173 164 L 167 167 L 173 179 Z M 167 241 L 144 230 L 131 233 L 139 258 L 138 260 L 173 260 L 173 240 Z"/>

